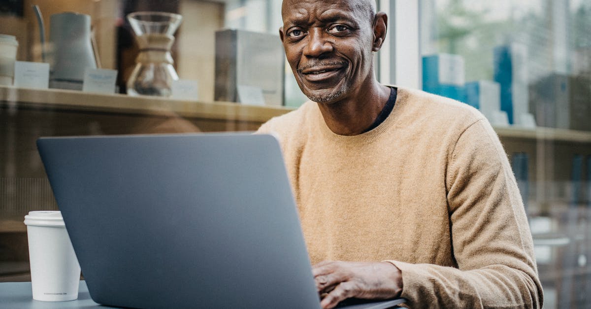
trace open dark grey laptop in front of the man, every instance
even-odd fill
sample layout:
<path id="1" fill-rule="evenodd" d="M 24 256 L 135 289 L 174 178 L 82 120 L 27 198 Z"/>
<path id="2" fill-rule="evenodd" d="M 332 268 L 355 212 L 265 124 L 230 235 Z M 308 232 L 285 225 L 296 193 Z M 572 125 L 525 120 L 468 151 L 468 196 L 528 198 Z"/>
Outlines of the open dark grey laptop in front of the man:
<path id="1" fill-rule="evenodd" d="M 95 302 L 320 307 L 275 137 L 47 137 L 37 146 Z"/>

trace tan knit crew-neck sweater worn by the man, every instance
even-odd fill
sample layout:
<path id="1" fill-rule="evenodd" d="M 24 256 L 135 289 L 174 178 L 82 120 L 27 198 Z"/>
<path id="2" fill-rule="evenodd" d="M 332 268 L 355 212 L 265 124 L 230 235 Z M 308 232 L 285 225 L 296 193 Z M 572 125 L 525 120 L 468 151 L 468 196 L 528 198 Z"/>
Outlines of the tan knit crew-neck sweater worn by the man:
<path id="1" fill-rule="evenodd" d="M 389 260 L 415 308 L 541 307 L 514 175 L 474 108 L 399 88 L 367 133 L 333 133 L 314 102 L 259 132 L 280 137 L 313 263 Z"/>

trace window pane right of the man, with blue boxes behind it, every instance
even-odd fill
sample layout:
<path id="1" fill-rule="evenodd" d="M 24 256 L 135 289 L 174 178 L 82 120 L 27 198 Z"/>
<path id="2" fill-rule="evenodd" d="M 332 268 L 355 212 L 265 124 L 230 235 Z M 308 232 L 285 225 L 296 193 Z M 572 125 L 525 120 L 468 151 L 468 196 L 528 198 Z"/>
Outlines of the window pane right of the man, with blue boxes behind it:
<path id="1" fill-rule="evenodd" d="M 423 89 L 499 134 L 534 236 L 545 308 L 591 304 L 591 2 L 424 0 Z"/>

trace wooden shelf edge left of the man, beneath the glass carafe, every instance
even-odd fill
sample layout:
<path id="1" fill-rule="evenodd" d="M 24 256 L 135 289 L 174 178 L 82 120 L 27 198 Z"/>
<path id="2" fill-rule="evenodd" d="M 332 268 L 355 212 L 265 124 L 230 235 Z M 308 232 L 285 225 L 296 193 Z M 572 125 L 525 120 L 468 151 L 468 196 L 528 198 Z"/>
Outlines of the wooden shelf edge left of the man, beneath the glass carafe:
<path id="1" fill-rule="evenodd" d="M 197 102 L 150 96 L 93 94 L 62 89 L 0 86 L 0 106 L 87 110 L 124 114 L 179 115 L 187 118 L 265 122 L 291 108 L 233 102 Z"/>

